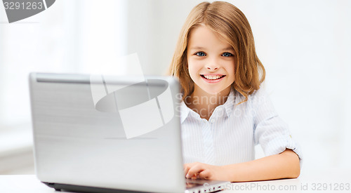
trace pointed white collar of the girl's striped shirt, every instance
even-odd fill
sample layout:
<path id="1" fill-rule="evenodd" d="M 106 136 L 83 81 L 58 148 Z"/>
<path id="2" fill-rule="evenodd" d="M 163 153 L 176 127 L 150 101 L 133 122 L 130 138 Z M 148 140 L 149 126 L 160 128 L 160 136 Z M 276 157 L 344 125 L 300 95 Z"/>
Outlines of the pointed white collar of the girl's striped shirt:
<path id="1" fill-rule="evenodd" d="M 227 117 L 230 117 L 230 114 L 232 113 L 232 110 L 234 109 L 234 99 L 235 99 L 235 90 L 232 88 L 230 90 L 230 93 L 228 95 L 227 100 L 225 101 L 225 103 L 223 106 L 225 108 L 225 115 Z M 218 106 L 218 107 L 220 107 Z M 183 122 L 185 121 L 185 119 L 187 119 L 187 117 L 190 117 L 192 113 L 194 113 L 193 115 L 195 117 L 200 117 L 199 114 L 197 114 L 196 112 L 192 112 L 192 109 L 190 109 L 189 107 L 187 107 L 187 105 L 185 105 L 184 100 L 182 100 L 182 102 L 180 103 L 180 124 L 183 124 Z"/>

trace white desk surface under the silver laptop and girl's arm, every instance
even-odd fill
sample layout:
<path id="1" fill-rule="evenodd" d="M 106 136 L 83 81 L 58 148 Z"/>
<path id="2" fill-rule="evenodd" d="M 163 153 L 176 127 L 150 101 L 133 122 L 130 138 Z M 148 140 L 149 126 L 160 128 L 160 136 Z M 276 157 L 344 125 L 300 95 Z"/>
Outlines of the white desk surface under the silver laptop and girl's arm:
<path id="1" fill-rule="evenodd" d="M 351 192 L 351 170 L 303 171 L 297 179 L 228 184 L 228 192 Z M 324 190 L 325 189 L 325 190 Z M 0 175 L 0 192 L 55 192 L 35 175 Z"/>

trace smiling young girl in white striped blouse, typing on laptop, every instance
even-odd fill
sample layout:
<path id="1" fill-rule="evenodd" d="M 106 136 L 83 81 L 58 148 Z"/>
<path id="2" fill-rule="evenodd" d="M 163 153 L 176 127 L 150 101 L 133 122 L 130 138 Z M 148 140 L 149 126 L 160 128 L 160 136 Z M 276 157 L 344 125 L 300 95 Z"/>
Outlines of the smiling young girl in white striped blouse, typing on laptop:
<path id="1" fill-rule="evenodd" d="M 186 178 L 240 182 L 300 175 L 300 148 L 260 88 L 265 69 L 237 7 L 222 1 L 195 6 L 170 73 L 183 93 Z M 257 144 L 267 157 L 253 160 Z"/>

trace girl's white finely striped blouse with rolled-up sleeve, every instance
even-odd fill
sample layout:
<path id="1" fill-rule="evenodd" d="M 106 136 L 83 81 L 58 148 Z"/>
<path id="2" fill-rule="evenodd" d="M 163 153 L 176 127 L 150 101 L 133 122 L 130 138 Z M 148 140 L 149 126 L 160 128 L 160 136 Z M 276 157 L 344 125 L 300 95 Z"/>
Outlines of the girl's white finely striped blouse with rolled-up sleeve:
<path id="1" fill-rule="evenodd" d="M 260 88 L 237 105 L 244 96 L 230 91 L 225 104 L 216 107 L 208 119 L 180 105 L 184 163 L 199 161 L 223 166 L 255 159 L 254 146 L 260 144 L 265 156 L 292 149 L 302 163 L 302 153 L 291 138 L 288 126 L 274 110 L 270 98 Z"/>

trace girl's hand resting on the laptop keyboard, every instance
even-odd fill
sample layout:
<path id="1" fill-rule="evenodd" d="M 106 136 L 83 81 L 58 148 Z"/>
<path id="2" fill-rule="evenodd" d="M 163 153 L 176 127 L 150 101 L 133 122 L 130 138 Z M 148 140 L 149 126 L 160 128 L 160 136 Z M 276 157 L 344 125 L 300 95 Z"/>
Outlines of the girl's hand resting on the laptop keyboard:
<path id="1" fill-rule="evenodd" d="M 205 180 L 225 180 L 223 166 L 212 166 L 199 162 L 184 164 L 185 178 Z"/>

